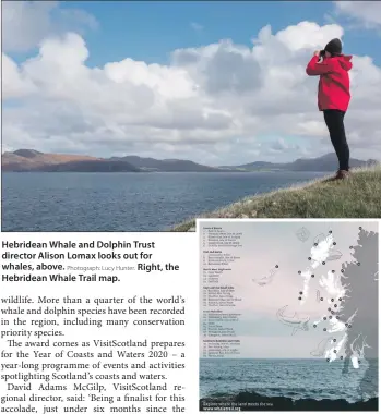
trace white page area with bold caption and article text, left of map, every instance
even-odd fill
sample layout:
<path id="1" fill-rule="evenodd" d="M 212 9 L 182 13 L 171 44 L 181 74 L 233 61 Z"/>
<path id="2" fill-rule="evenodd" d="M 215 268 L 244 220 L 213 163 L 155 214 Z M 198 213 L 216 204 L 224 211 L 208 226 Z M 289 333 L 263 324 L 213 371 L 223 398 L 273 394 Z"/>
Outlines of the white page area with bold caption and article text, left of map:
<path id="1" fill-rule="evenodd" d="M 2 413 L 198 411 L 197 239 L 1 234 Z"/>

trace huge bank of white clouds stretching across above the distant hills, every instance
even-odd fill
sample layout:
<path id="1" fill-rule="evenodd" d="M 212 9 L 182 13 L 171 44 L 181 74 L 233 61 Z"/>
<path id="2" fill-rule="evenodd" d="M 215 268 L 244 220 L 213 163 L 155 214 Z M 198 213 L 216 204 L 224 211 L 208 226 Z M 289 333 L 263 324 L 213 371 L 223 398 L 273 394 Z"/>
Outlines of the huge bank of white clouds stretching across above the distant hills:
<path id="1" fill-rule="evenodd" d="M 318 156 L 332 148 L 317 109 L 318 80 L 305 69 L 313 50 L 342 36 L 338 25 L 301 22 L 275 34 L 266 26 L 250 47 L 223 39 L 178 49 L 167 65 L 126 57 L 88 68 L 81 35 L 49 35 L 21 64 L 3 57 L 3 97 L 16 99 L 5 100 L 3 143 L 213 165 Z M 381 158 L 381 69 L 355 57 L 352 78 L 353 156 Z"/>

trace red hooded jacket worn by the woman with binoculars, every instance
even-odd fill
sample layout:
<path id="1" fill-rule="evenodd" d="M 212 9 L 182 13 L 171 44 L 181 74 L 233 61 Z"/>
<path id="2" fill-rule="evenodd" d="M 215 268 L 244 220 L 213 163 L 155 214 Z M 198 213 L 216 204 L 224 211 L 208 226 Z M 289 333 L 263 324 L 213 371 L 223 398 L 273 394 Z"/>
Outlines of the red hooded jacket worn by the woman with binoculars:
<path id="1" fill-rule="evenodd" d="M 320 111 L 325 109 L 338 109 L 346 111 L 350 101 L 349 75 L 352 69 L 352 56 L 337 56 L 325 58 L 321 63 L 314 56 L 307 65 L 309 76 L 320 75 L 318 107 Z"/>

